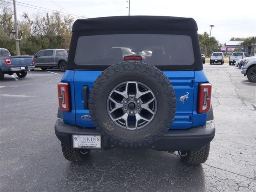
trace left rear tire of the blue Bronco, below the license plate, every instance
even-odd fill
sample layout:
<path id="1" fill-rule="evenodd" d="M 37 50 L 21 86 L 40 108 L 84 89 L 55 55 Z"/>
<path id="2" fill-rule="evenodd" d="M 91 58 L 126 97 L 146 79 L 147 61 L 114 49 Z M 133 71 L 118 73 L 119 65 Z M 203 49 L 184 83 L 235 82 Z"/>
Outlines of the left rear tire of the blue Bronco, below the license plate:
<path id="1" fill-rule="evenodd" d="M 86 160 L 89 157 L 90 149 L 74 149 L 68 148 L 65 144 L 61 144 L 62 154 L 66 160 L 72 162 L 79 162 L 82 160 Z"/>

